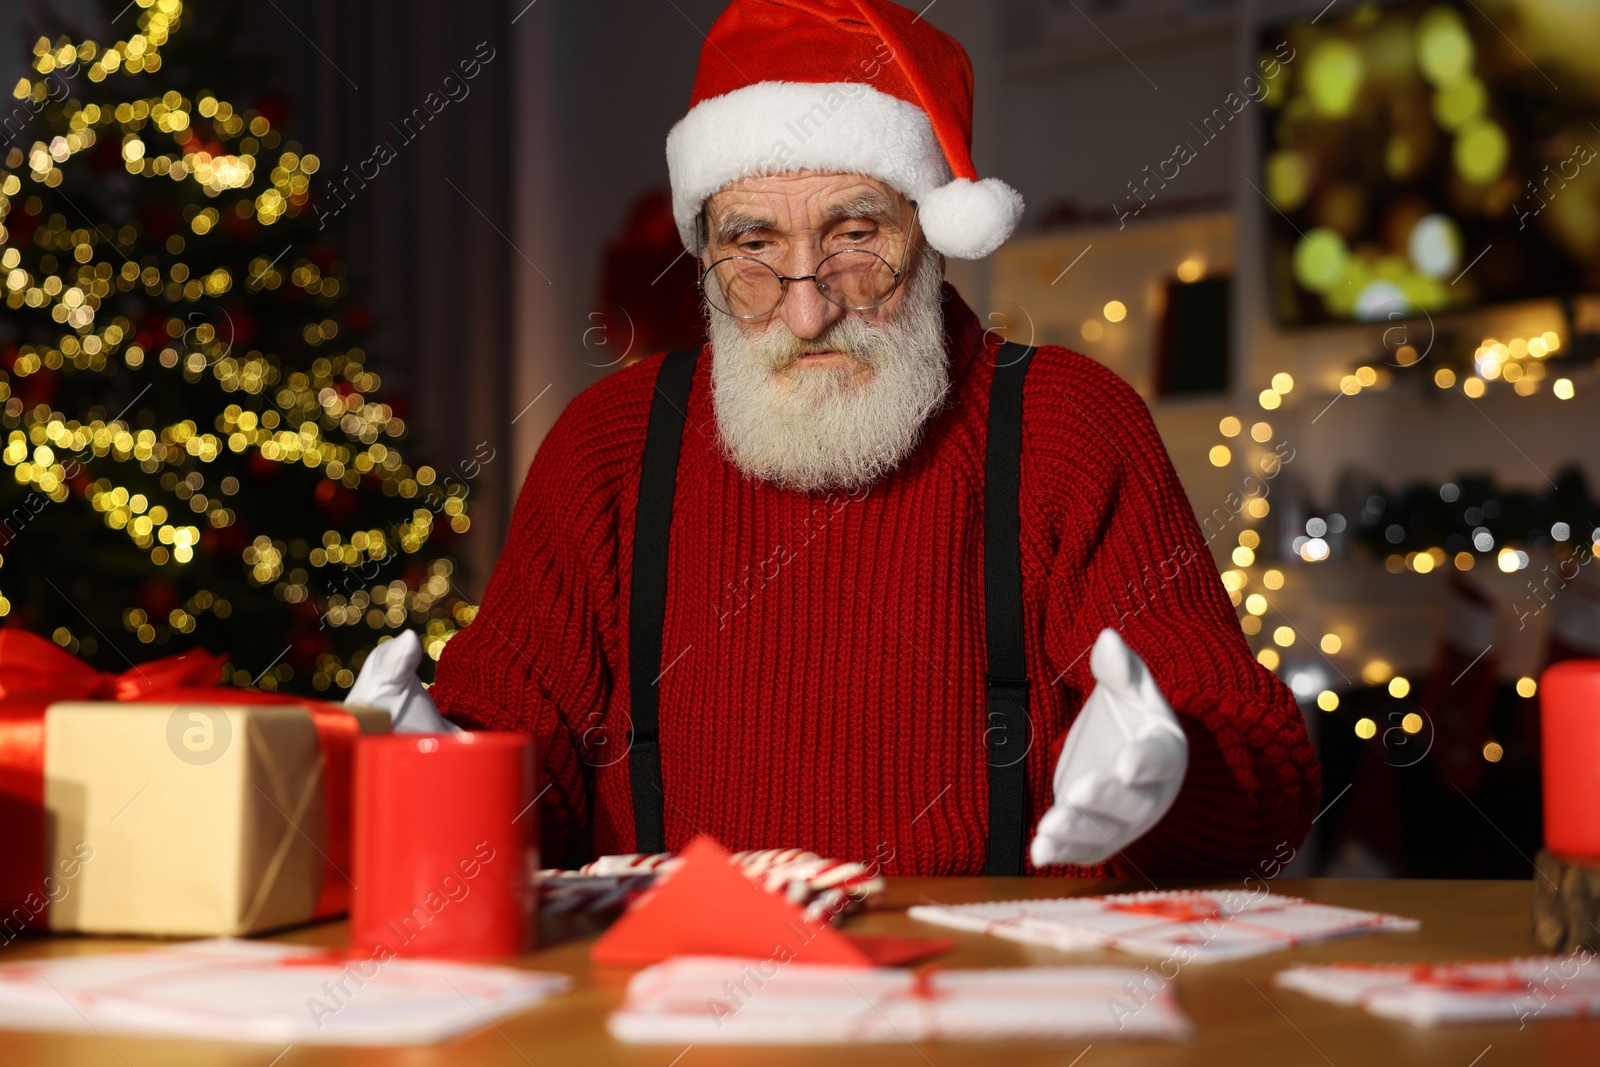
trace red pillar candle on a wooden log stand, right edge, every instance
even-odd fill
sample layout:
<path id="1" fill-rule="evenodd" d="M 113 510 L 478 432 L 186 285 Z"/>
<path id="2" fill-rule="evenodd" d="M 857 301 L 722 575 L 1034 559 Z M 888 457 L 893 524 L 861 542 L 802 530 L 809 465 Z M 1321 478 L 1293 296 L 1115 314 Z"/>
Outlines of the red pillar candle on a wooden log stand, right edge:
<path id="1" fill-rule="evenodd" d="M 1600 859 L 1600 659 L 1568 659 L 1539 680 L 1544 845 Z"/>

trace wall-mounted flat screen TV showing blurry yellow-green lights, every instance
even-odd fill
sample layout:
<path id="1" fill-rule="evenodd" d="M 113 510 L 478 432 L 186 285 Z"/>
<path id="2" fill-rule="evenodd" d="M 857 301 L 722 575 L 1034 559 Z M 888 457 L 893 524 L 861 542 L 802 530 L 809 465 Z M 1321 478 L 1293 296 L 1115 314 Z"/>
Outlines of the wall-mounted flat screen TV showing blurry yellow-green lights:
<path id="1" fill-rule="evenodd" d="M 1341 2 L 1258 43 L 1278 323 L 1600 291 L 1600 3 Z"/>

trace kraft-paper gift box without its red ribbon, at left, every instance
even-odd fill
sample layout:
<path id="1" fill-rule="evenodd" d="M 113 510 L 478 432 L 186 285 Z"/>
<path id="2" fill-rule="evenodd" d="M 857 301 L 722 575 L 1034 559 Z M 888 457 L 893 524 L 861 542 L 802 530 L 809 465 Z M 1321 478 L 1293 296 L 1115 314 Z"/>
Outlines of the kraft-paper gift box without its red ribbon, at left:
<path id="1" fill-rule="evenodd" d="M 350 720 L 387 728 L 382 712 Z M 317 918 L 347 873 L 331 859 L 347 848 L 330 845 L 328 771 L 294 704 L 50 705 L 50 929 L 237 936 Z M 347 790 L 347 773 L 333 785 Z"/>

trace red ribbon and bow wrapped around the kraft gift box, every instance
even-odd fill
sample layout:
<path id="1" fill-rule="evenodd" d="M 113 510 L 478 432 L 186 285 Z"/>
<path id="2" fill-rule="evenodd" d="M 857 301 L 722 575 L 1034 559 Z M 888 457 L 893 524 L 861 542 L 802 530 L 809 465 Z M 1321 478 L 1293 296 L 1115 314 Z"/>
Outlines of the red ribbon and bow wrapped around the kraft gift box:
<path id="1" fill-rule="evenodd" d="M 189 651 L 122 673 L 96 670 L 53 641 L 0 629 L 0 915 L 26 907 L 45 877 L 45 712 L 61 701 L 301 704 L 323 755 L 328 832 L 317 918 L 349 910 L 350 765 L 360 725 L 339 704 L 216 685 L 222 656 Z"/>

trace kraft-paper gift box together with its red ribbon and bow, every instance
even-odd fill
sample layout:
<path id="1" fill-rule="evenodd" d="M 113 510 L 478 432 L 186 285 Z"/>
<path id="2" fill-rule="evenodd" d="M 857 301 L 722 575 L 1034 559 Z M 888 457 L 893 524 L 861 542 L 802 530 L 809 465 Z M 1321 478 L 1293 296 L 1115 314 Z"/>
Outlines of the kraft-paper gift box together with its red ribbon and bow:
<path id="1" fill-rule="evenodd" d="M 216 685 L 222 657 L 104 673 L 0 630 L 0 939 L 246 934 L 349 905 L 355 737 L 379 710 Z"/>

